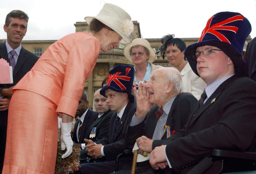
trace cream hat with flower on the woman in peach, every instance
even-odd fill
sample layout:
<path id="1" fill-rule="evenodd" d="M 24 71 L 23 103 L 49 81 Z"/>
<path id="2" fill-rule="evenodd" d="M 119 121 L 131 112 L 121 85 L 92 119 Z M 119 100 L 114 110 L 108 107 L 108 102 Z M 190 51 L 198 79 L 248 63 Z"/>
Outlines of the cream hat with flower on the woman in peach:
<path id="1" fill-rule="evenodd" d="M 94 18 L 116 31 L 122 37 L 120 43 L 128 44 L 132 42 L 130 35 L 134 30 L 134 25 L 130 15 L 122 8 L 106 3 L 97 16 L 87 16 L 84 20 L 90 25 Z"/>

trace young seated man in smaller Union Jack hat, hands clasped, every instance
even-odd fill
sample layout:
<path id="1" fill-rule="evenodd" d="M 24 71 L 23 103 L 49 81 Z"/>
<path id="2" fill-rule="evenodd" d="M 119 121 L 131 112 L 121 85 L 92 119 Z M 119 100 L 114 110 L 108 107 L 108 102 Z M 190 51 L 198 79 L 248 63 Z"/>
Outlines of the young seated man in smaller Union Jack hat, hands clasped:
<path id="1" fill-rule="evenodd" d="M 114 172 L 116 156 L 126 147 L 124 137 L 130 120 L 136 111 L 134 96 L 131 94 L 134 80 L 134 68 L 118 65 L 110 70 L 107 85 L 100 90 L 106 96 L 109 108 L 115 111 L 110 119 L 108 135 L 95 143 L 85 139 L 86 152 L 99 162 L 81 164 L 86 174 Z"/>

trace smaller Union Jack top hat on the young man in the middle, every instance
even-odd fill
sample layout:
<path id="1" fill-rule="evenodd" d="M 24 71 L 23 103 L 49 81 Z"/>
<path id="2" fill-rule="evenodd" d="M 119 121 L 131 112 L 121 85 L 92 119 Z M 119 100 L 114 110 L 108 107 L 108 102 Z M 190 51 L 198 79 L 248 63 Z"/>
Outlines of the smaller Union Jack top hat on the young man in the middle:
<path id="1" fill-rule="evenodd" d="M 107 85 L 100 90 L 100 94 L 105 96 L 105 91 L 111 89 L 116 92 L 126 92 L 130 102 L 134 102 L 131 94 L 134 80 L 134 68 L 128 65 L 118 65 L 108 72 Z"/>

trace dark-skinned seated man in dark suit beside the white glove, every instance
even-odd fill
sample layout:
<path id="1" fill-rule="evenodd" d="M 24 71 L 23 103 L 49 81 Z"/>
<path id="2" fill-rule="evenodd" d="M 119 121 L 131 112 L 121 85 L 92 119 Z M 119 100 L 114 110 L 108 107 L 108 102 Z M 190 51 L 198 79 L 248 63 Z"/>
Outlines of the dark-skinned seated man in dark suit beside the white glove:
<path id="1" fill-rule="evenodd" d="M 80 149 L 85 148 L 84 139 L 86 138 L 86 131 L 90 125 L 97 119 L 98 113 L 88 108 L 89 102 L 86 94 L 83 92 L 82 97 L 78 102 L 76 115 L 78 120 L 74 125 L 74 134 L 72 137 L 73 146 L 79 147 Z"/>

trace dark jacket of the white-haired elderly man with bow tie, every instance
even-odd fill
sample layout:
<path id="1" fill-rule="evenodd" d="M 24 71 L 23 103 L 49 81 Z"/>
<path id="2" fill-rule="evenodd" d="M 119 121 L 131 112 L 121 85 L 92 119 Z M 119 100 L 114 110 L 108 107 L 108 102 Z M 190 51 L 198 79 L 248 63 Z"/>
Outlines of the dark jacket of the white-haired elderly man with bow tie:
<path id="1" fill-rule="evenodd" d="M 171 131 L 182 129 L 187 123 L 189 113 L 196 102 L 196 98 L 187 92 L 176 96 L 166 120 L 166 125 L 171 126 Z M 152 139 L 158 121 L 155 116 L 157 110 L 158 107 L 154 106 L 146 116 L 145 121 L 135 126 L 129 126 L 126 135 L 126 145 L 128 149 L 132 149 L 136 139 L 142 135 Z M 163 135 L 162 139 L 166 139 L 166 133 Z"/>

